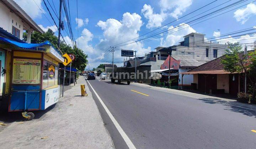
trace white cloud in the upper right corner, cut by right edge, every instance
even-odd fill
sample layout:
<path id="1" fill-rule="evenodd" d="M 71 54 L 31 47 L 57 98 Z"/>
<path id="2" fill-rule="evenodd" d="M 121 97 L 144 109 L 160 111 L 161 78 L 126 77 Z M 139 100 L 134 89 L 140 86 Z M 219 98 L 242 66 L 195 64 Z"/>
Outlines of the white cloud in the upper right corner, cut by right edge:
<path id="1" fill-rule="evenodd" d="M 244 24 L 252 15 L 256 15 L 256 5 L 251 3 L 246 6 L 246 8 L 238 9 L 234 12 L 234 17 L 236 21 Z"/>

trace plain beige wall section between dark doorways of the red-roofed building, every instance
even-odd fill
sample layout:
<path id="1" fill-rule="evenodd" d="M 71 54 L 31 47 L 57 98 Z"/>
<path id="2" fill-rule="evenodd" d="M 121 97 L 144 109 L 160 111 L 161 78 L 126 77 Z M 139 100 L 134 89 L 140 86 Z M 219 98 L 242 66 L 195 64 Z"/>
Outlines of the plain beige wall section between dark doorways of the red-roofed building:
<path id="1" fill-rule="evenodd" d="M 217 89 L 225 89 L 225 93 L 229 93 L 229 75 L 217 75 Z"/>

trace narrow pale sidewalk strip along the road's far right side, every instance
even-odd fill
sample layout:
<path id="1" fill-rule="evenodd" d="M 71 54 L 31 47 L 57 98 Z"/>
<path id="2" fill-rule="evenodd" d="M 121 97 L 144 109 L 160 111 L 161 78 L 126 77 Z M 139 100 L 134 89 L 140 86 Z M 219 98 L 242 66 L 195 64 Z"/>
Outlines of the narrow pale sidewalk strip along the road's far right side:
<path id="1" fill-rule="evenodd" d="M 177 89 L 155 87 L 155 86 L 151 86 L 149 84 L 144 84 L 144 83 L 131 83 L 131 84 L 138 85 L 138 86 L 141 86 L 141 87 L 146 87 L 146 88 L 162 90 L 164 92 L 170 92 L 170 93 L 183 95 L 183 96 L 188 96 L 188 97 L 192 97 L 192 98 L 197 98 L 197 99 L 201 99 L 201 100 L 206 100 L 208 103 L 212 102 L 212 103 L 229 104 L 229 105 L 239 106 L 239 107 L 243 107 L 243 108 L 246 108 L 246 109 L 249 109 L 249 110 L 256 111 L 256 105 L 240 103 L 240 102 L 237 102 L 236 100 L 232 100 L 232 99 L 226 99 L 226 98 L 220 98 L 220 97 L 215 97 L 215 96 L 197 94 L 197 93 L 186 92 L 186 91 L 177 90 Z"/>

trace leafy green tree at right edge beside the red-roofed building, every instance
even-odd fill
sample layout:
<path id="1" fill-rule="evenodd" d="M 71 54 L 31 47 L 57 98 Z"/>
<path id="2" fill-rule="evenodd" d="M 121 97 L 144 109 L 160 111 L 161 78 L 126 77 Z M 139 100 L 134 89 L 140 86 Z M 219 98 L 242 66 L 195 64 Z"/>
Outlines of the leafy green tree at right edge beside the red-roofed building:
<path id="1" fill-rule="evenodd" d="M 251 103 L 256 103 L 256 51 L 249 51 L 245 55 L 239 43 L 228 43 L 226 55 L 221 62 L 225 71 L 246 74 L 252 90 Z"/>

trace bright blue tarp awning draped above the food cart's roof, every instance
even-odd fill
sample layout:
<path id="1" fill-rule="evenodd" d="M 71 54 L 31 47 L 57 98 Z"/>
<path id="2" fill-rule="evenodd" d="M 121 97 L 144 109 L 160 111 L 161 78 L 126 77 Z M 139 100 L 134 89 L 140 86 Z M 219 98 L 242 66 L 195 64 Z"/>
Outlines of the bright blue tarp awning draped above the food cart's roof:
<path id="1" fill-rule="evenodd" d="M 5 42 L 5 43 L 14 44 L 14 45 L 16 45 L 18 47 L 21 47 L 21 48 L 33 48 L 33 47 L 36 47 L 36 46 L 51 45 L 49 41 L 46 41 L 46 42 L 40 43 L 40 44 L 29 44 L 29 43 L 16 42 L 14 40 L 10 40 L 10 39 L 4 38 L 4 37 L 0 37 L 0 40 Z"/>

